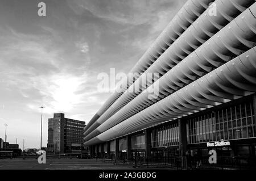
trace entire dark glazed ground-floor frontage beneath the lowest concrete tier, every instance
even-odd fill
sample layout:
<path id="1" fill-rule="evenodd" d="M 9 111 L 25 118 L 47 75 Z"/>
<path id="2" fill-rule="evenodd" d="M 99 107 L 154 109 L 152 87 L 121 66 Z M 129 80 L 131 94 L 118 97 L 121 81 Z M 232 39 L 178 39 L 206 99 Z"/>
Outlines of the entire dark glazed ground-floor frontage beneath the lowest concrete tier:
<path id="1" fill-rule="evenodd" d="M 205 110 L 181 119 L 182 138 L 187 136 L 186 150 L 190 150 L 191 163 L 196 167 L 196 152 L 201 158 L 201 167 L 213 168 L 209 165 L 209 150 L 216 150 L 217 163 L 215 167 L 255 168 L 256 167 L 256 124 L 253 98 L 240 99 L 221 106 Z M 183 132 L 184 131 L 184 132 Z M 187 132 L 186 132 L 187 131 Z M 150 135 L 148 135 L 148 134 Z M 187 133 L 187 135 L 185 135 Z M 151 136 L 151 148 L 146 151 L 146 136 Z M 107 144 L 104 144 L 104 153 L 100 157 L 131 159 L 137 163 L 146 161 L 168 163 L 178 166 L 181 164 L 179 145 L 178 120 L 170 121 L 156 127 L 118 138 L 119 151 L 115 152 L 115 140 L 109 141 L 110 153 Z M 128 143 L 128 140 L 130 141 Z M 184 140 L 183 144 L 186 144 Z M 229 141 L 228 146 L 209 146 L 207 142 Z M 128 149 L 127 146 L 131 145 Z M 148 144 L 150 146 L 150 144 Z M 99 146 L 99 152 L 101 151 Z M 126 151 L 125 151 L 126 150 Z M 146 156 L 147 152 L 147 156 Z M 115 157 L 117 154 L 117 157 Z"/>

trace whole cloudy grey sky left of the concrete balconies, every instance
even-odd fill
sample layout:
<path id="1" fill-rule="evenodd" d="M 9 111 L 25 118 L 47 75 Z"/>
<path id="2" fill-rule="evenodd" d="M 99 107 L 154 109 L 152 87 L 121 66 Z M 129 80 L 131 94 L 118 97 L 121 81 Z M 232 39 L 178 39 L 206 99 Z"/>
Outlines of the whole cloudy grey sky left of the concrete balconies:
<path id="1" fill-rule="evenodd" d="M 0 138 L 39 148 L 40 106 L 42 146 L 53 113 L 88 123 L 112 94 L 98 74 L 129 73 L 186 1 L 0 0 Z"/>

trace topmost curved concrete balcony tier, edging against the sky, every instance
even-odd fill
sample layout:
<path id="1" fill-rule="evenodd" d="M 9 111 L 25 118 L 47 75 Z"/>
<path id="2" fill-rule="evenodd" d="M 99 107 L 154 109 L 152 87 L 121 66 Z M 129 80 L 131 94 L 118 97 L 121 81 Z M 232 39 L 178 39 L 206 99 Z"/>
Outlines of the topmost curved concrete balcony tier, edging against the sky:
<path id="1" fill-rule="evenodd" d="M 213 0 L 188 0 L 130 72 L 142 74 L 207 9 L 210 2 Z M 134 81 L 138 77 L 134 77 Z M 134 83 L 134 81 L 129 82 L 127 79 L 124 81 L 127 82 L 127 86 L 119 88 L 106 100 L 86 125 L 84 131 L 108 110 L 115 100 L 127 90 L 127 87 Z"/>

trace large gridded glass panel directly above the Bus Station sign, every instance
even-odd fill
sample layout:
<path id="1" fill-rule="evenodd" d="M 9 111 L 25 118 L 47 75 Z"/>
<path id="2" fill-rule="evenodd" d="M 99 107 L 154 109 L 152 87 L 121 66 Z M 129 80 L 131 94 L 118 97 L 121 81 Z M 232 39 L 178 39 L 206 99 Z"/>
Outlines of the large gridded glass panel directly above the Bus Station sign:
<path id="1" fill-rule="evenodd" d="M 212 111 L 189 119 L 187 123 L 189 144 L 255 136 L 256 127 L 252 102 Z"/>

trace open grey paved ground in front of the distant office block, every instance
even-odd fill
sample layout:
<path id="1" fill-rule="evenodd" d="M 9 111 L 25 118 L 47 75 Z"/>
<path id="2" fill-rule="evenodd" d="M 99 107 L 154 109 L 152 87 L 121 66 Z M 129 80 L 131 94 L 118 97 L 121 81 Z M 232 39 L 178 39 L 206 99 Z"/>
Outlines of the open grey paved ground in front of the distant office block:
<path id="1" fill-rule="evenodd" d="M 134 169 L 133 165 L 104 163 L 95 159 L 77 158 L 47 158 L 46 164 L 39 164 L 36 158 L 14 158 L 0 159 L 0 170 L 5 169 L 26 169 L 26 170 L 63 170 L 63 169 L 86 169 L 86 170 L 105 170 L 105 169 Z"/>

